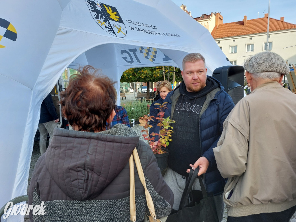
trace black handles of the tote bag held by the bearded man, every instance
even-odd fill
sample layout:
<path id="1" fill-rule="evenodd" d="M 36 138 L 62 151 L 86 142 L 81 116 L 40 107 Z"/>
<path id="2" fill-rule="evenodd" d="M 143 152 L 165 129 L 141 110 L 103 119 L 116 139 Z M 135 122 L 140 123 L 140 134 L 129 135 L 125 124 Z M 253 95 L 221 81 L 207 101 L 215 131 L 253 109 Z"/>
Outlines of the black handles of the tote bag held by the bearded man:
<path id="1" fill-rule="evenodd" d="M 205 189 L 205 185 L 202 182 L 202 178 L 200 176 L 197 176 L 199 169 L 200 169 L 199 167 L 197 167 L 195 170 L 190 169 L 188 180 L 187 180 L 187 183 L 185 185 L 185 188 L 184 188 L 184 191 L 183 191 L 183 194 L 182 194 L 182 197 L 181 197 L 179 210 L 181 210 L 182 207 L 184 207 L 186 197 L 188 196 L 189 191 L 192 189 L 192 186 L 193 186 L 193 184 L 195 182 L 195 179 L 197 177 L 198 177 L 198 180 L 200 182 L 200 188 L 202 190 L 202 196 L 203 196 L 203 198 L 207 197 L 207 191 Z"/>

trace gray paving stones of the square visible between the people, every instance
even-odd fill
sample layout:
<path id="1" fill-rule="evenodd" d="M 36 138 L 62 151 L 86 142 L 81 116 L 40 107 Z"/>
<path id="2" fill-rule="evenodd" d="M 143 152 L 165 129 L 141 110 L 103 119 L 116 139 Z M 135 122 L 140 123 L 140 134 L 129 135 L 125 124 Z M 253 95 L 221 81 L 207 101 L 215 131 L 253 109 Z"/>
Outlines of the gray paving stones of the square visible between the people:
<path id="1" fill-rule="evenodd" d="M 134 94 L 133 93 L 126 93 L 126 99 L 122 100 L 121 99 L 121 104 L 124 103 L 125 101 L 131 101 L 134 100 Z M 142 126 L 135 125 L 132 128 L 139 136 L 140 139 L 144 140 L 143 137 L 141 136 L 141 130 L 143 129 Z M 147 143 L 147 140 L 144 140 L 144 142 Z M 49 144 L 49 141 L 47 141 L 47 146 Z M 34 142 L 34 146 L 33 146 L 33 152 L 32 152 L 32 157 L 31 157 L 31 163 L 30 163 L 30 172 L 29 172 L 29 180 L 28 180 L 28 190 L 29 190 L 29 186 L 30 186 L 30 181 L 31 181 L 31 177 L 32 177 L 32 173 L 34 170 L 34 166 L 36 164 L 36 161 L 38 160 L 38 158 L 40 157 L 40 150 L 39 150 L 39 141 Z M 29 222 L 29 218 L 28 216 L 25 216 L 25 222 Z M 224 208 L 224 215 L 223 215 L 223 220 L 222 222 L 227 222 L 227 208 Z M 296 213 L 292 216 L 292 218 L 290 219 L 290 222 L 296 222 Z"/>

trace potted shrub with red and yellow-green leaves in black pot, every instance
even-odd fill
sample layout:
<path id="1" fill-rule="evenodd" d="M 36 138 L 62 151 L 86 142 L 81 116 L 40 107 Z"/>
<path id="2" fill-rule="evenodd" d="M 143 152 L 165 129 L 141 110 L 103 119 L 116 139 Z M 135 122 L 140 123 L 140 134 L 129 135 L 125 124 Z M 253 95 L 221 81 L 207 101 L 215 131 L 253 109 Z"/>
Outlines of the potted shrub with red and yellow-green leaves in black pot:
<path id="1" fill-rule="evenodd" d="M 171 120 L 170 117 L 164 118 L 165 112 L 164 109 L 167 109 L 167 102 L 164 102 L 163 104 L 155 103 L 157 106 L 155 109 L 159 110 L 157 117 L 154 116 L 148 116 L 144 115 L 139 119 L 140 126 L 143 126 L 144 129 L 141 130 L 143 133 L 142 136 L 144 140 L 147 140 L 149 143 L 149 146 L 151 147 L 156 159 L 158 166 L 161 170 L 162 175 L 164 176 L 165 171 L 168 168 L 168 149 L 165 149 L 169 141 L 172 141 L 170 138 L 173 133 L 173 126 L 171 126 L 171 123 L 176 123 L 176 121 Z M 151 137 L 148 133 L 148 128 L 151 128 L 152 126 L 149 124 L 150 121 L 157 121 L 157 126 L 159 126 L 160 130 L 159 133 L 151 133 Z M 158 136 L 158 141 L 155 142 L 155 136 Z"/>

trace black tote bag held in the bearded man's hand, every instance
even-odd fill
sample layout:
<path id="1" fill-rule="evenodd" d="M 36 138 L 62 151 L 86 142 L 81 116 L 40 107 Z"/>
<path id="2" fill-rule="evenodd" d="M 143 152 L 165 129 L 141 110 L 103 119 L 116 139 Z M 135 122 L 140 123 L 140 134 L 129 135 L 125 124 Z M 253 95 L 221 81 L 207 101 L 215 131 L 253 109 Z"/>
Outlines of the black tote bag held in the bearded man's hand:
<path id="1" fill-rule="evenodd" d="M 213 194 L 207 194 L 200 176 L 200 190 L 191 190 L 197 178 L 199 168 L 190 170 L 188 181 L 184 188 L 180 201 L 179 210 L 171 213 L 166 222 L 219 222 Z M 186 197 L 189 195 L 189 204 L 184 206 Z"/>

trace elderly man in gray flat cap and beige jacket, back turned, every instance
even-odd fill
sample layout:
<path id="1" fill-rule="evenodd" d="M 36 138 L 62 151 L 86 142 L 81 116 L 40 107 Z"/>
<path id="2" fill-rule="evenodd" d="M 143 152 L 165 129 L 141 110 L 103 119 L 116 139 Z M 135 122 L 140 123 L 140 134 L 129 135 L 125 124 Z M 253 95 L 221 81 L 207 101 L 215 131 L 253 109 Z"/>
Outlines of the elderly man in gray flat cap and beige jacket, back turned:
<path id="1" fill-rule="evenodd" d="M 280 85 L 289 67 L 261 52 L 244 69 L 252 92 L 229 113 L 214 148 L 228 178 L 227 222 L 289 221 L 296 210 L 296 95 Z"/>

